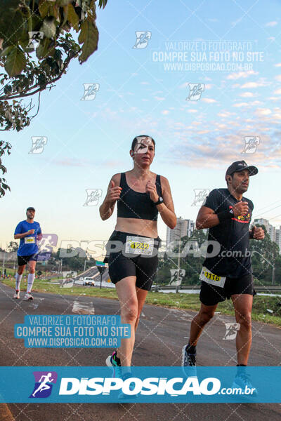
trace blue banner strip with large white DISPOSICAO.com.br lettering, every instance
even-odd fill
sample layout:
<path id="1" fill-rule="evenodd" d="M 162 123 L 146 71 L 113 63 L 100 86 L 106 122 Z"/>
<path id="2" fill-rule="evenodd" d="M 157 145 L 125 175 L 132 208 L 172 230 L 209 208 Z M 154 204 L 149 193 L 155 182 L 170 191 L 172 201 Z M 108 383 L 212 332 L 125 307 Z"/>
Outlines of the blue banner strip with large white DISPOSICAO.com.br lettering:
<path id="1" fill-rule="evenodd" d="M 281 367 L 0 367 L 1 403 L 280 403 Z"/>

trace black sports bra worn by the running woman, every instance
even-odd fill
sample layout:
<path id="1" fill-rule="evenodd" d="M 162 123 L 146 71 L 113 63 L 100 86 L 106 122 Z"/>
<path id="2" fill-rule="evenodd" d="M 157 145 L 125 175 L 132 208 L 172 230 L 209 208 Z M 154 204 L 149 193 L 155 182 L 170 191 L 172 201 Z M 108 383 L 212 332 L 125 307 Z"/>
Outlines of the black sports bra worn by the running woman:
<path id="1" fill-rule="evenodd" d="M 162 196 L 160 175 L 156 176 L 156 190 Z M 157 221 L 158 209 L 148 193 L 135 192 L 126 182 L 125 173 L 121 173 L 120 187 L 122 192 L 117 201 L 117 217 L 136 218 Z"/>

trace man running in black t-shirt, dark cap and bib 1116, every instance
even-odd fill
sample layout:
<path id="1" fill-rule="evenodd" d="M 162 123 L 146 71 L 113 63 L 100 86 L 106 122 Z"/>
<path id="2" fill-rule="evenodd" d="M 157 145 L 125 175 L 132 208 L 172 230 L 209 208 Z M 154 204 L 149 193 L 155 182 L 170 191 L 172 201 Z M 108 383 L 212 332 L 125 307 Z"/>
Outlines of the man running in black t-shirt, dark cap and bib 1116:
<path id="1" fill-rule="evenodd" d="M 254 205 L 243 197 L 255 166 L 235 161 L 226 171 L 227 189 L 214 189 L 197 215 L 197 229 L 209 228 L 207 258 L 200 280 L 201 309 L 190 326 L 188 345 L 183 347 L 183 367 L 196 365 L 196 345 L 205 324 L 214 316 L 218 302 L 231 298 L 237 323 L 237 366 L 247 366 L 251 347 L 251 307 L 256 294 L 253 285 L 249 239 L 264 238 L 262 228 L 249 223 Z"/>

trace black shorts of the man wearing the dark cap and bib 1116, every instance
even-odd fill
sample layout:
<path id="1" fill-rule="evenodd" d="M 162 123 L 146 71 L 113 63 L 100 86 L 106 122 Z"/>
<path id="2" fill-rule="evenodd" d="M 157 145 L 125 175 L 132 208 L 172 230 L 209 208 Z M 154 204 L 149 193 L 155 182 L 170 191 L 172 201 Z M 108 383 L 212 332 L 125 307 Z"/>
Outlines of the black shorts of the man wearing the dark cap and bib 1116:
<path id="1" fill-rule="evenodd" d="M 234 294 L 256 295 L 252 274 L 245 274 L 240 278 L 228 278 L 221 288 L 202 281 L 200 289 L 200 301 L 204 305 L 216 305 L 218 302 L 229 300 Z"/>

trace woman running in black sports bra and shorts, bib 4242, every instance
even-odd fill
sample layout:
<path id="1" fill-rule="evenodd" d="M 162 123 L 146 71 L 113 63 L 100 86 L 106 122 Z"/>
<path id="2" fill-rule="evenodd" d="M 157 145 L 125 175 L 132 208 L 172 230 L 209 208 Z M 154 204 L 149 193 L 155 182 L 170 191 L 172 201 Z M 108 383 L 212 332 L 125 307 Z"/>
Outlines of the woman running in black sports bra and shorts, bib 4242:
<path id="1" fill-rule="evenodd" d="M 121 347 L 106 360 L 114 377 L 129 371 L 136 328 L 156 273 L 161 241 L 157 233 L 158 212 L 168 227 L 176 227 L 169 181 L 150 171 L 155 140 L 146 135 L 134 138 L 130 155 L 133 169 L 112 176 L 100 206 L 100 217 L 107 220 L 117 201 L 117 224 L 106 246 L 105 262 L 116 286 L 122 323 L 131 325 L 131 338 L 122 339 Z M 123 373 L 121 367 L 126 367 Z"/>

